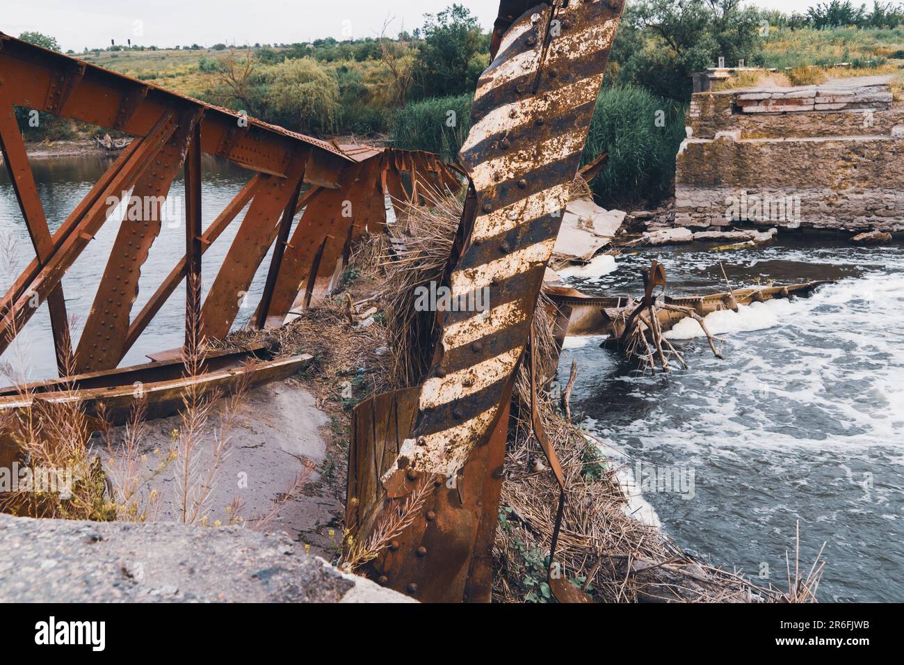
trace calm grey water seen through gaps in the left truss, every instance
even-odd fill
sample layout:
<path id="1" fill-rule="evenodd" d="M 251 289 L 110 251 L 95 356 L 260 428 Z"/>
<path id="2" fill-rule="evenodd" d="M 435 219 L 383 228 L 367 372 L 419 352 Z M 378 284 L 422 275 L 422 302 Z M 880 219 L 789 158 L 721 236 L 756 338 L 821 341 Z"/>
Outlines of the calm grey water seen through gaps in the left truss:
<path id="1" fill-rule="evenodd" d="M 32 159 L 34 178 L 38 183 L 44 213 L 51 233 L 60 227 L 66 215 L 97 181 L 112 163 L 106 157 L 56 157 L 52 159 Z M 204 156 L 202 159 L 202 225 L 206 229 L 216 215 L 238 194 L 252 176 L 246 169 L 231 162 Z M 247 209 L 247 208 L 246 208 Z M 182 175 L 177 176 L 164 206 L 160 235 L 157 237 L 147 261 L 142 268 L 138 282 L 138 296 L 132 309 L 133 316 L 153 295 L 160 282 L 171 271 L 176 261 L 185 253 L 184 231 L 184 183 Z M 202 290 L 210 289 L 216 272 L 219 271 L 226 252 L 229 251 L 244 211 L 235 222 L 204 252 L 202 269 Z M 63 277 L 63 291 L 66 309 L 75 318 L 71 327 L 73 339 L 78 339 L 84 327 L 91 303 L 97 291 L 99 276 L 103 274 L 113 241 L 116 239 L 121 209 L 108 220 L 89 242 L 85 252 Z M 297 223 L 297 220 L 296 220 Z M 272 251 L 272 250 L 271 250 Z M 14 191 L 5 168 L 0 168 L 0 282 L 4 291 L 11 279 L 34 258 L 32 242 L 19 212 Z M 253 313 L 267 278 L 269 254 L 261 263 L 258 273 L 242 299 L 242 308 L 236 325 L 243 325 Z M 179 347 L 184 340 L 185 290 L 181 284 L 167 300 L 154 320 L 146 328 L 142 337 L 128 352 L 123 365 L 146 362 L 147 353 Z M 47 305 L 42 304 L 32 320 L 25 326 L 13 347 L 8 349 L 3 360 L 15 366 L 17 372 L 29 378 L 45 378 L 56 374 L 53 356 L 53 341 L 50 330 L 50 316 Z M 8 382 L 2 382 L 8 383 Z"/>

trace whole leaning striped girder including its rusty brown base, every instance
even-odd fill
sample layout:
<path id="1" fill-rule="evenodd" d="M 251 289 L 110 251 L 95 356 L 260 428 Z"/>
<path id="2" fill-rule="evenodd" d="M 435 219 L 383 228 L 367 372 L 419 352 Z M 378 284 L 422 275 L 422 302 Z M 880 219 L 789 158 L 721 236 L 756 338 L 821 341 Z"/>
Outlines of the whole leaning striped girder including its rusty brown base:
<path id="1" fill-rule="evenodd" d="M 438 312 L 422 384 L 377 395 L 355 415 L 347 516 L 355 539 L 419 483 L 436 483 L 430 508 L 367 569 L 419 600 L 489 600 L 515 370 L 623 4 L 503 0 L 459 155 L 470 188 L 446 276 L 453 299 L 488 290 L 490 309 Z"/>

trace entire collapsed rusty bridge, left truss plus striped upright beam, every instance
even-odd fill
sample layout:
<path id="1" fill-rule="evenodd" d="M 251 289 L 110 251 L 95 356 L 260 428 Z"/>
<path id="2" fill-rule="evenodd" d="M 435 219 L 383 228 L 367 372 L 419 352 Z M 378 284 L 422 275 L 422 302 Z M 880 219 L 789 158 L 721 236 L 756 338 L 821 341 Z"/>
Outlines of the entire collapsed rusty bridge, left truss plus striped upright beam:
<path id="1" fill-rule="evenodd" d="M 445 276 L 455 297 L 488 288 L 491 309 L 486 317 L 437 312 L 434 360 L 420 385 L 374 395 L 353 414 L 345 521 L 354 538 L 366 538 L 382 513 L 428 485 L 422 515 L 363 570 L 419 600 L 490 600 L 513 379 L 531 356 L 525 350 L 543 273 L 623 7 L 624 0 L 501 0 L 493 61 L 478 81 L 472 128 L 459 155 L 466 204 Z M 138 196 L 165 195 L 180 168 L 186 183 L 185 255 L 132 316 L 138 273 L 160 223 L 141 211 L 125 216 L 76 347 L 82 372 L 118 365 L 176 285 L 198 278 L 204 250 L 249 202 L 206 299 L 200 302 L 186 290 L 186 320 L 200 316 L 207 337 L 229 332 L 236 296 L 248 289 L 274 242 L 264 294 L 250 322 L 259 328 L 280 325 L 289 311 L 328 292 L 353 244 L 363 233 L 381 232 L 387 194 L 393 201 L 416 202 L 419 182 L 439 191 L 459 186 L 454 171 L 426 153 L 352 150 L 6 35 L 0 34 L 0 45 L 0 140 L 36 255 L 0 302 L 0 351 L 33 314 L 36 293 L 50 307 L 63 363 L 69 331 L 61 277 L 105 223 L 107 196 L 133 187 Z M 13 105 L 136 137 L 53 234 Z M 254 172 L 203 232 L 202 153 Z M 311 189 L 302 195 L 305 183 Z M 353 216 L 345 218 L 341 209 L 349 201 Z M 528 362 L 532 366 L 533 358 Z M 563 486 L 536 411 L 533 423 Z M 555 541 L 554 533 L 554 593 L 560 600 L 586 602 L 570 583 L 554 579 Z"/>

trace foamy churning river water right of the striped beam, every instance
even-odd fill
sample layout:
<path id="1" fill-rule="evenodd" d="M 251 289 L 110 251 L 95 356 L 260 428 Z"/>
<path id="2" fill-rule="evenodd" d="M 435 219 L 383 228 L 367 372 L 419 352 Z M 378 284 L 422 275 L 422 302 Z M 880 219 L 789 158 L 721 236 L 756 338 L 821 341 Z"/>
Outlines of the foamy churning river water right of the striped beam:
<path id="1" fill-rule="evenodd" d="M 736 288 L 757 278 L 841 278 L 808 299 L 710 315 L 724 361 L 692 320 L 670 336 L 686 371 L 641 376 L 598 345 L 564 353 L 561 372 L 569 356 L 579 362 L 572 411 L 593 419 L 593 432 L 645 470 L 693 472 L 692 499 L 668 488 L 644 496 L 679 544 L 784 587 L 799 520 L 801 565 L 827 543 L 822 600 L 904 599 L 901 249 L 683 248 L 628 258 L 598 287 L 636 294 L 639 280 L 620 275 L 639 274 L 651 255 L 664 262 L 673 293 L 724 290 L 720 260 Z"/>

